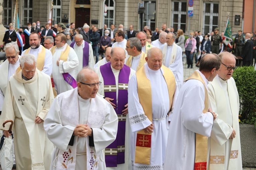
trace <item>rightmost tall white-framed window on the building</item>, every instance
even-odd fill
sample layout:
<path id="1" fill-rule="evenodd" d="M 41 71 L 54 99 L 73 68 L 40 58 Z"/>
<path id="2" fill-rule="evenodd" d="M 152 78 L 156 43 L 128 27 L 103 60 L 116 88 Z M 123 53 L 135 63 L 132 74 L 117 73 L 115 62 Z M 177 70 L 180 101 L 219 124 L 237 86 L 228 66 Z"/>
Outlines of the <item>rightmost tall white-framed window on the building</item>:
<path id="1" fill-rule="evenodd" d="M 203 4 L 203 34 L 207 34 L 218 27 L 219 4 Z"/>

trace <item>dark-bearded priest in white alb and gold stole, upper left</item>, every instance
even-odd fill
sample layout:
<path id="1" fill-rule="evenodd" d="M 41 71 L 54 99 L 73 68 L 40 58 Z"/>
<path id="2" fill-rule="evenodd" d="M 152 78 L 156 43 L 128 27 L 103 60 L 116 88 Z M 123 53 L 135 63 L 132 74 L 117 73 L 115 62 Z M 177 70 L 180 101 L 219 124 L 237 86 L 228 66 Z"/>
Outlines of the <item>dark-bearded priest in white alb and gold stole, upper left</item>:
<path id="1" fill-rule="evenodd" d="M 50 50 L 40 45 L 40 42 L 40 35 L 37 32 L 31 32 L 29 35 L 30 47 L 24 50 L 21 55 L 33 54 L 37 61 L 36 68 L 51 76 L 53 70 L 53 55 Z"/>

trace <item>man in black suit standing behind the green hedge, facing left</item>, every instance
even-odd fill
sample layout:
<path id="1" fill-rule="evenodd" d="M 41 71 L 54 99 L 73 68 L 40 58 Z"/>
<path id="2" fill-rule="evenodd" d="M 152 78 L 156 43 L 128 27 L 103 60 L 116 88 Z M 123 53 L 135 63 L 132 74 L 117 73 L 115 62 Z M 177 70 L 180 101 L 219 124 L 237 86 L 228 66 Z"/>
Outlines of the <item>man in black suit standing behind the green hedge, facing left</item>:
<path id="1" fill-rule="evenodd" d="M 245 34 L 245 44 L 242 48 L 241 57 L 243 58 L 243 66 L 250 66 L 253 63 L 253 41 L 251 40 L 251 34 Z"/>

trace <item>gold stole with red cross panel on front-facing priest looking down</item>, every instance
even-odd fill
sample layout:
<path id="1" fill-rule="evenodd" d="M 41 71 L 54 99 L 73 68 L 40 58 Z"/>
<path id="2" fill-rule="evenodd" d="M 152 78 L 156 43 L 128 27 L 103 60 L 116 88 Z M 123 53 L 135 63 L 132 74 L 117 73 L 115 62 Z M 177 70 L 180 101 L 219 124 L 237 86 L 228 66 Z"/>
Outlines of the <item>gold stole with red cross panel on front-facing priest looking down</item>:
<path id="1" fill-rule="evenodd" d="M 172 100 L 173 95 L 175 92 L 176 82 L 175 77 L 172 73 L 172 71 L 162 65 L 162 69 L 164 71 L 164 78 L 168 87 L 168 93 L 169 93 L 169 101 L 170 106 L 169 110 L 172 107 Z M 145 115 L 148 117 L 148 119 L 152 121 L 152 94 L 151 94 L 151 84 L 150 80 L 147 78 L 145 73 L 145 65 L 141 67 L 138 71 L 136 71 L 136 77 L 137 77 L 137 86 L 138 86 L 138 96 L 140 100 L 140 104 L 143 108 L 143 111 Z M 141 140 L 142 139 L 142 140 Z M 141 164 L 150 164 L 150 152 L 151 152 L 151 133 L 146 134 L 144 130 L 137 132 L 137 140 L 136 142 L 136 151 L 135 151 L 135 163 L 141 163 Z M 136 140 L 136 141 L 137 141 Z M 138 146 L 137 143 L 142 142 L 142 146 Z M 148 146 L 147 146 L 148 142 Z M 144 145 L 145 143 L 145 145 Z"/>

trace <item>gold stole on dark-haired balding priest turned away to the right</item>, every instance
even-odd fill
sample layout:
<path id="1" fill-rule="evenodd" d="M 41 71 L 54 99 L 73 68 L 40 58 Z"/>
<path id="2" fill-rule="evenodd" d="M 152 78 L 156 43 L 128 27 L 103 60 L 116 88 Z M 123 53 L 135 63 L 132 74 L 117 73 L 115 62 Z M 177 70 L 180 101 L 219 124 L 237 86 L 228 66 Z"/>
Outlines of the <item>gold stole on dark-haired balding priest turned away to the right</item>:
<path id="1" fill-rule="evenodd" d="M 209 109 L 209 99 L 208 99 L 208 91 L 205 86 L 204 80 L 201 77 L 200 73 L 198 71 L 195 71 L 193 74 L 191 74 L 188 79 L 184 80 L 187 81 L 189 79 L 197 79 L 203 83 L 204 86 L 204 109 L 203 113 L 208 112 Z M 196 141 L 195 141 L 195 165 L 196 163 L 200 164 L 205 164 L 206 167 L 206 162 L 207 162 L 207 137 L 196 134 Z M 199 166 L 200 166 L 199 164 Z"/>

